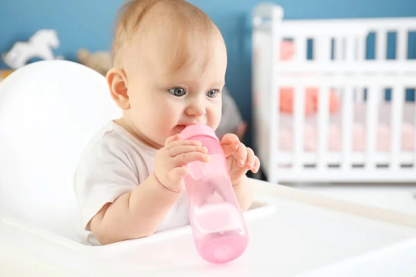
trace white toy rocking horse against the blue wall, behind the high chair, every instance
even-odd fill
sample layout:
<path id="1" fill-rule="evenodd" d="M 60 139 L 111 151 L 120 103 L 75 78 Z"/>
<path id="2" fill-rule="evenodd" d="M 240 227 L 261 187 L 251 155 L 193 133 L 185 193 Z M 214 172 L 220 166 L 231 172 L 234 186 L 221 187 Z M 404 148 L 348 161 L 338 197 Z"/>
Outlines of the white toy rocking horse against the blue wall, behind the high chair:
<path id="1" fill-rule="evenodd" d="M 3 53 L 1 58 L 10 69 L 19 69 L 33 58 L 41 60 L 56 60 L 63 57 L 55 57 L 53 48 L 59 48 L 60 42 L 55 30 L 38 30 L 28 42 L 15 43 L 10 51 Z"/>

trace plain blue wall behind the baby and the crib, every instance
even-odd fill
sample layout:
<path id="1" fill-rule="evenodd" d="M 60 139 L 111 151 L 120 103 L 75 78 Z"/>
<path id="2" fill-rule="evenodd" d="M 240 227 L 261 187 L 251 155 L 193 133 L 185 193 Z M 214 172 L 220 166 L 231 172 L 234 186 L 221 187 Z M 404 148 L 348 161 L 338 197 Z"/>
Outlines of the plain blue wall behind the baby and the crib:
<path id="1" fill-rule="evenodd" d="M 261 0 L 189 0 L 207 12 L 223 32 L 228 48 L 227 87 L 251 120 L 250 12 Z M 415 17 L 416 0 L 273 0 L 286 19 Z M 55 28 L 61 47 L 56 52 L 75 59 L 81 47 L 108 49 L 116 9 L 123 0 L 15 0 L 0 8 L 0 53 L 40 28 Z M 5 68 L 0 63 L 0 68 Z M 248 137 L 248 144 L 250 144 Z"/>

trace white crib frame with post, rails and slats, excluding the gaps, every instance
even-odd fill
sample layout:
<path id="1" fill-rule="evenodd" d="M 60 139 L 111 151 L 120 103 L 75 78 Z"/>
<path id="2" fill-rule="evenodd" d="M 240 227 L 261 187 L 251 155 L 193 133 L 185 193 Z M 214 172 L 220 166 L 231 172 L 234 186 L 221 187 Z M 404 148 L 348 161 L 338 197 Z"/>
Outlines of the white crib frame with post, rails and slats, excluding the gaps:
<path id="1" fill-rule="evenodd" d="M 416 147 L 415 151 L 402 152 L 399 145 L 404 89 L 416 87 L 416 62 L 406 58 L 407 33 L 415 30 L 416 17 L 283 20 L 280 6 L 260 3 L 253 11 L 252 22 L 254 143 L 268 181 L 416 182 Z M 376 59 L 365 60 L 366 39 L 372 32 L 376 33 Z M 395 60 L 386 59 L 387 32 L 397 32 Z M 280 60 L 279 46 L 286 38 L 293 39 L 295 54 L 291 60 Z M 307 39 L 313 39 L 313 60 L 306 60 Z M 332 42 L 334 60 L 331 60 Z M 277 96 L 282 87 L 292 87 L 295 95 L 293 152 L 278 147 L 281 116 Z M 317 87 L 320 91 L 317 111 L 319 148 L 313 153 L 306 153 L 303 148 L 304 139 L 309 139 L 304 137 L 306 99 L 303 91 L 306 87 Z M 343 148 L 339 152 L 327 151 L 328 91 L 331 88 L 337 91 L 341 109 L 345 111 Z M 354 114 L 352 102 L 363 101 L 365 88 L 367 141 L 365 151 L 357 153 L 352 152 L 350 145 L 353 130 L 350 117 Z M 387 153 L 376 150 L 374 143 L 379 102 L 385 88 L 392 89 L 393 104 L 392 139 Z M 414 116 L 416 118 L 416 114 Z M 413 164 L 413 168 L 402 168 L 402 163 Z"/>

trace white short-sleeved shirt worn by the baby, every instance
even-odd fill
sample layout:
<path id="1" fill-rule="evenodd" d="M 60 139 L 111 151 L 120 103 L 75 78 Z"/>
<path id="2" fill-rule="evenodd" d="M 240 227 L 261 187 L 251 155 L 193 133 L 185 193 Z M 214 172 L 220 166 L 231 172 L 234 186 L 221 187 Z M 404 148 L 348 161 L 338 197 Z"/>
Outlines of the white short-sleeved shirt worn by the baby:
<path id="1" fill-rule="evenodd" d="M 89 142 L 74 177 L 83 243 L 100 245 L 87 224 L 106 203 L 135 190 L 148 178 L 156 152 L 112 121 Z M 183 191 L 157 231 L 188 224 L 188 198 Z"/>

